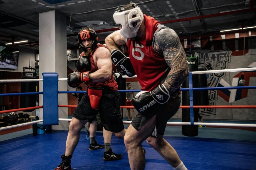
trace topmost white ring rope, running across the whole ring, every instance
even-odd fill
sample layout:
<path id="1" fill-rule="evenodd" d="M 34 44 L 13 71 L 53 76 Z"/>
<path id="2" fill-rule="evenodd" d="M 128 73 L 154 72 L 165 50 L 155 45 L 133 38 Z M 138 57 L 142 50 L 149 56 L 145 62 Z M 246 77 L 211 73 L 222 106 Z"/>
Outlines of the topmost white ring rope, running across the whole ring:
<path id="1" fill-rule="evenodd" d="M 205 74 L 205 73 L 226 73 L 226 72 L 241 72 L 241 71 L 255 71 L 256 67 L 250 68 L 234 68 L 234 69 L 225 69 L 225 70 L 207 70 L 207 71 L 192 71 L 192 74 Z M 126 75 L 123 78 L 136 78 L 137 75 L 133 77 L 128 77 Z M 66 81 L 68 78 L 58 78 L 59 81 Z M 13 83 L 13 82 L 32 82 L 32 81 L 43 81 L 41 79 L 10 79 L 10 80 L 0 80 L 0 83 Z"/>

